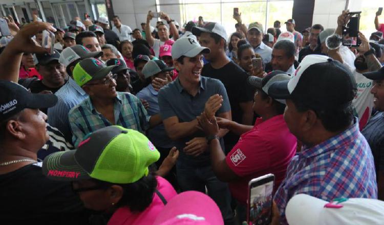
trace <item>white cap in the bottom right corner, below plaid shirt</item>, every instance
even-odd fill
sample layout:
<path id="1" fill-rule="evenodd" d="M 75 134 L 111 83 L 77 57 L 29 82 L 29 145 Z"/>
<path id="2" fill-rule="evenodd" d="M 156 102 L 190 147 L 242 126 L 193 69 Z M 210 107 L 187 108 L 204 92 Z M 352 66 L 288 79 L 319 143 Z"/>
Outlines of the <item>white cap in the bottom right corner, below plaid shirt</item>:
<path id="1" fill-rule="evenodd" d="M 384 201 L 338 198 L 331 202 L 307 194 L 293 196 L 285 209 L 290 225 L 375 225 L 384 223 Z"/>

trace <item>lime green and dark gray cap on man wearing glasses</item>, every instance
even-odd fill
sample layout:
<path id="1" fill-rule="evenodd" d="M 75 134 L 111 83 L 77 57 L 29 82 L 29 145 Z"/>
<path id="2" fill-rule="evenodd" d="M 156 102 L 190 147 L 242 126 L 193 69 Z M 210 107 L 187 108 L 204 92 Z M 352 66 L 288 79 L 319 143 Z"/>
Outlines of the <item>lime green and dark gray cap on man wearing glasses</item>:
<path id="1" fill-rule="evenodd" d="M 99 80 L 106 77 L 117 65 L 106 66 L 100 60 L 87 58 L 81 60 L 73 69 L 73 79 L 81 87 L 91 80 Z"/>

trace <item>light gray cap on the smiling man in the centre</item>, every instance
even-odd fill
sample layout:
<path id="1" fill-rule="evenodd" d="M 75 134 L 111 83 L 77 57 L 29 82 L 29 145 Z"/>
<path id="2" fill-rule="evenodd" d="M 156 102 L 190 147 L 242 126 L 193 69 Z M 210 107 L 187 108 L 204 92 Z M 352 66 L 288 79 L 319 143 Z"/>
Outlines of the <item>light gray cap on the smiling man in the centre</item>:
<path id="1" fill-rule="evenodd" d="M 195 57 L 200 53 L 209 53 L 210 50 L 201 47 L 196 39 L 192 37 L 182 37 L 177 39 L 172 46 L 172 59 L 178 59 L 181 56 Z"/>

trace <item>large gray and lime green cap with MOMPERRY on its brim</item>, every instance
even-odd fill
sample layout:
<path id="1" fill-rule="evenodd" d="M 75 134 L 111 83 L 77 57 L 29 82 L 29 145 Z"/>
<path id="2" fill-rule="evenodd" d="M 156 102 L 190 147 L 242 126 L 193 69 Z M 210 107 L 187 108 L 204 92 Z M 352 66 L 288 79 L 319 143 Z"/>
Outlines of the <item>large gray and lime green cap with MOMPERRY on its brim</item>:
<path id="1" fill-rule="evenodd" d="M 108 126 L 88 134 L 76 150 L 48 155 L 42 162 L 42 172 L 58 181 L 95 178 L 130 184 L 148 175 L 148 166 L 159 158 L 159 151 L 144 134 Z"/>

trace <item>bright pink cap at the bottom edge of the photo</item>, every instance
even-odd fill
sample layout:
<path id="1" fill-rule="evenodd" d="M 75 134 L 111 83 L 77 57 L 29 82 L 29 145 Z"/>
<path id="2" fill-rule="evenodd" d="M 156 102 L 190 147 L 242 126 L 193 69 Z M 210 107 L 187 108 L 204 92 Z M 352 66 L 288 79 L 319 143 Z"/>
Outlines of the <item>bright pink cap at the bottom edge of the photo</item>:
<path id="1" fill-rule="evenodd" d="M 186 191 L 168 201 L 154 225 L 222 225 L 223 217 L 215 201 L 198 191 Z"/>

